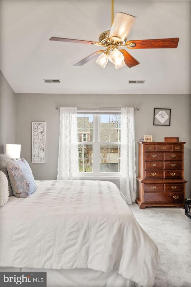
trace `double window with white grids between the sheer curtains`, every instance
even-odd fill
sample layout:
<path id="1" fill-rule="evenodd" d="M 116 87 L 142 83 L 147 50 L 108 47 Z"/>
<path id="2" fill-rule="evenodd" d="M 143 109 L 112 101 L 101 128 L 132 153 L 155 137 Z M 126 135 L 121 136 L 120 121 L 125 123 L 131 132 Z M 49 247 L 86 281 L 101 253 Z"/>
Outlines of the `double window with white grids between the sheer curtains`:
<path id="1" fill-rule="evenodd" d="M 80 174 L 119 176 L 121 114 L 78 114 L 77 125 Z"/>

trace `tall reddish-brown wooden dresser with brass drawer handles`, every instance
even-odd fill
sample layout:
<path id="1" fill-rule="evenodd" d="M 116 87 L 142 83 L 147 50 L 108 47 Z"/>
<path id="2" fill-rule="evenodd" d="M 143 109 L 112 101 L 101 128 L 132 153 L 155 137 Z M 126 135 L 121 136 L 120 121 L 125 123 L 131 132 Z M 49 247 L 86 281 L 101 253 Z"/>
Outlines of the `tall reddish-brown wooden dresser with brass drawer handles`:
<path id="1" fill-rule="evenodd" d="M 185 208 L 185 142 L 138 142 L 138 203 Z"/>

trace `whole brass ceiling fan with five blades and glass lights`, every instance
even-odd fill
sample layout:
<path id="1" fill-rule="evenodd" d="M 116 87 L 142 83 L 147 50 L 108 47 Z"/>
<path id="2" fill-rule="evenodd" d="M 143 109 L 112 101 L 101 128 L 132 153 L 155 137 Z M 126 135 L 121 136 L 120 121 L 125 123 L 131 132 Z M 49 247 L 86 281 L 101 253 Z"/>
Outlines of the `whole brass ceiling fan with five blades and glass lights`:
<path id="1" fill-rule="evenodd" d="M 96 58 L 96 64 L 105 68 L 108 60 L 110 60 L 115 68 L 121 68 L 127 65 L 129 68 L 139 64 L 139 62 L 133 58 L 125 49 L 119 49 L 121 47 L 128 49 L 153 49 L 153 48 L 176 48 L 178 46 L 179 38 L 168 39 L 150 39 L 150 40 L 129 40 L 127 36 L 135 21 L 135 16 L 117 12 L 114 18 L 114 0 L 111 0 L 112 9 L 112 26 L 111 30 L 104 31 L 100 34 L 98 42 L 86 41 L 70 38 L 51 37 L 49 40 L 63 41 L 81 44 L 97 45 L 100 47 L 106 47 L 105 50 L 96 51 L 82 60 L 75 63 L 73 66 L 81 66 L 88 61 Z"/>

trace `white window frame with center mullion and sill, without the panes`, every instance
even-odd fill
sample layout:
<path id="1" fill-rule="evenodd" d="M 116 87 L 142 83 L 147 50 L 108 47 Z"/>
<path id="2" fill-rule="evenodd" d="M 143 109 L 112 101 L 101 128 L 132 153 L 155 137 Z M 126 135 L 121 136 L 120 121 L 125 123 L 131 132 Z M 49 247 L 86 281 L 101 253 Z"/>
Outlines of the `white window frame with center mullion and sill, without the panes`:
<path id="1" fill-rule="evenodd" d="M 100 172 L 100 145 L 120 145 L 119 142 L 100 142 L 100 114 L 121 114 L 119 111 L 104 111 L 104 112 L 92 112 L 81 111 L 77 114 L 93 114 L 93 142 L 78 142 L 78 144 L 90 144 L 93 146 L 93 172 L 81 172 L 79 173 L 80 179 L 120 179 L 120 173 L 114 172 Z M 96 148 L 97 147 L 97 148 Z"/>

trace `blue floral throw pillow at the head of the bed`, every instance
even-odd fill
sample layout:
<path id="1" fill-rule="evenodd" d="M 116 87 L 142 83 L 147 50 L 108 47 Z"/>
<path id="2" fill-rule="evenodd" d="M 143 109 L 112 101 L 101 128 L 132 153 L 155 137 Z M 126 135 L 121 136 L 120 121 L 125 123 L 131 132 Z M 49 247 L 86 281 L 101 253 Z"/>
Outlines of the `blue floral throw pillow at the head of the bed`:
<path id="1" fill-rule="evenodd" d="M 28 197 L 36 191 L 37 185 L 32 170 L 24 158 L 19 161 L 7 161 L 7 171 L 16 197 Z"/>

